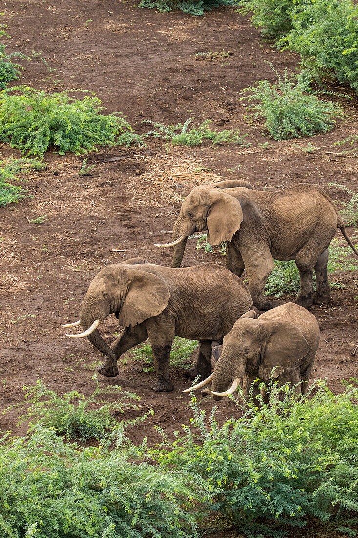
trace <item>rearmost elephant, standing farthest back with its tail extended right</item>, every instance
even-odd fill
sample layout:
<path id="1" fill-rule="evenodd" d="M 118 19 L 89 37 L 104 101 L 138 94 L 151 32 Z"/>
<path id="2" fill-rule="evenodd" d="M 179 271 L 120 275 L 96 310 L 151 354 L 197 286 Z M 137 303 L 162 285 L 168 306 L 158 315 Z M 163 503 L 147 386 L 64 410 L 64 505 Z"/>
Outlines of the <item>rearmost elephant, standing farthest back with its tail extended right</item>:
<path id="1" fill-rule="evenodd" d="M 182 203 L 173 228 L 171 267 L 180 267 L 187 239 L 207 230 L 207 242 L 226 242 L 226 267 L 241 277 L 246 269 L 249 290 L 259 310 L 278 306 L 264 297 L 274 259 L 295 260 L 300 274 L 297 304 L 310 308 L 331 298 L 327 275 L 328 245 L 339 228 L 358 256 L 330 197 L 309 185 L 283 190 L 255 190 L 242 181 L 200 185 Z M 237 184 L 237 186 L 235 186 Z M 313 293 L 312 271 L 317 291 Z"/>

